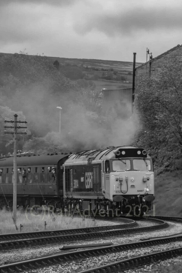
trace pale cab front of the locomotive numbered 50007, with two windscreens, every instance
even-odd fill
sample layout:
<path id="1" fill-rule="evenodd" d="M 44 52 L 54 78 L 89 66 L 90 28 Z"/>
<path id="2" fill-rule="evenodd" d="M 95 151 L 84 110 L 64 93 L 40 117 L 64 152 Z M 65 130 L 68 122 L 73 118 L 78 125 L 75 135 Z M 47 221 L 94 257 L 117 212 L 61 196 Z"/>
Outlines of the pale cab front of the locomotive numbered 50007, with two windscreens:
<path id="1" fill-rule="evenodd" d="M 146 150 L 133 147 L 120 147 L 114 155 L 106 160 L 104 197 L 118 213 L 140 216 L 155 199 L 152 159 Z"/>

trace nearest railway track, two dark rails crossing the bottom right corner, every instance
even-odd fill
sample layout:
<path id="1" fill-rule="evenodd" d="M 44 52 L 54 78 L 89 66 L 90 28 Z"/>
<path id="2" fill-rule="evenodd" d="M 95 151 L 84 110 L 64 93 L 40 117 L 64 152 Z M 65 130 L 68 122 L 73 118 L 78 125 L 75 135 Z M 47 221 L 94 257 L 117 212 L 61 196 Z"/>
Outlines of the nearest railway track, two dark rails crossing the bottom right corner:
<path id="1" fill-rule="evenodd" d="M 128 243 L 128 244 L 117 244 L 117 245 L 104 245 L 95 247 L 87 247 L 83 249 L 74 249 L 66 251 L 60 251 L 52 253 L 51 255 L 43 255 L 33 259 L 26 259 L 21 261 L 16 261 L 14 263 L 5 264 L 0 266 L 0 273 L 13 273 L 13 272 L 20 272 L 20 271 L 28 271 L 29 269 L 35 270 L 40 268 L 41 266 L 51 266 L 55 264 L 62 264 L 65 262 L 71 262 L 73 260 L 79 260 L 83 258 L 88 258 L 92 256 L 99 256 L 108 253 L 116 253 L 120 251 L 126 251 L 131 249 L 137 249 L 139 247 L 147 247 L 156 244 L 164 244 L 170 243 L 173 241 L 182 241 L 182 234 L 165 236 L 165 237 L 157 237 L 150 240 L 138 241 L 135 243 Z M 69 246 L 70 247 L 70 246 Z M 68 248 L 69 248 L 68 247 Z M 72 246 L 74 248 L 74 246 Z M 78 246 L 77 246 L 78 247 Z M 64 248 L 62 248 L 64 249 Z M 158 261 L 160 259 L 166 259 L 170 257 L 175 257 L 177 255 L 182 255 L 182 247 L 174 248 L 171 250 L 165 250 L 160 252 L 155 252 L 143 256 L 133 257 L 130 259 L 125 259 L 121 261 L 117 261 L 114 263 L 110 263 L 107 265 L 100 266 L 98 268 L 90 268 L 85 271 L 80 271 L 79 273 L 113 273 L 122 270 L 126 270 L 132 267 L 144 266 L 146 263 L 150 263 L 151 261 Z"/>

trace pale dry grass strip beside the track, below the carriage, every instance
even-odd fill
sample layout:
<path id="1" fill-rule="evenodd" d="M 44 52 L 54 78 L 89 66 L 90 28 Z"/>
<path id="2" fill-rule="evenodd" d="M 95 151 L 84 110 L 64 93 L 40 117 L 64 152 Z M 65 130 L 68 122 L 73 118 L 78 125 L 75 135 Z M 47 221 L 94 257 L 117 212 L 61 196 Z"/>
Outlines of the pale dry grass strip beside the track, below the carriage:
<path id="1" fill-rule="evenodd" d="M 16 233 L 17 230 L 12 220 L 12 212 L 2 210 L 0 211 L 0 234 Z M 65 215 L 52 215 L 45 213 L 31 213 L 17 211 L 16 224 L 18 232 L 20 232 L 20 224 L 22 224 L 21 232 L 57 230 L 57 229 L 72 229 L 80 227 L 94 227 L 95 221 L 91 218 L 81 218 L 80 216 L 69 217 Z"/>

